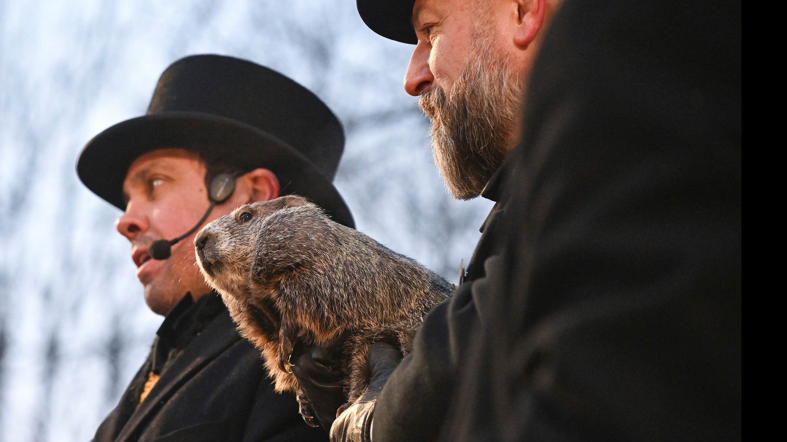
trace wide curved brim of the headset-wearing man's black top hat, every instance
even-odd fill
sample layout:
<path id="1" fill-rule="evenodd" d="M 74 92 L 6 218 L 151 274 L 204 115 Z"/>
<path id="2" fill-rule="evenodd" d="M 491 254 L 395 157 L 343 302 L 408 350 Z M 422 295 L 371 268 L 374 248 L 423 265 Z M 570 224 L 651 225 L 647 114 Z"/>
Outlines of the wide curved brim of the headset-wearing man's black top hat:
<path id="1" fill-rule="evenodd" d="M 87 142 L 76 173 L 88 189 L 125 210 L 123 182 L 131 163 L 167 147 L 207 153 L 242 170 L 267 168 L 279 179 L 280 195 L 307 197 L 337 223 L 355 227 L 331 180 L 301 153 L 249 124 L 203 112 L 160 112 L 116 123 Z"/>

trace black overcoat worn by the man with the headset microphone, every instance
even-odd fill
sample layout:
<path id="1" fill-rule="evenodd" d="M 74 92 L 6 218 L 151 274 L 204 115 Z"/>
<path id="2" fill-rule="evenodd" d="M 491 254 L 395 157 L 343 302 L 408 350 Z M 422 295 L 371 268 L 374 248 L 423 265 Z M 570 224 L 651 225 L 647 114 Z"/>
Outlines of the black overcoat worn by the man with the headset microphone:
<path id="1" fill-rule="evenodd" d="M 273 391 L 262 364 L 260 352 L 238 335 L 224 309 L 164 371 L 126 425 L 118 406 L 98 428 L 94 440 L 327 440 L 323 429 L 303 422 L 292 394 Z M 146 377 L 149 370 L 146 363 L 135 381 Z M 127 396 L 137 391 L 128 389 L 120 403 L 134 400 Z"/>

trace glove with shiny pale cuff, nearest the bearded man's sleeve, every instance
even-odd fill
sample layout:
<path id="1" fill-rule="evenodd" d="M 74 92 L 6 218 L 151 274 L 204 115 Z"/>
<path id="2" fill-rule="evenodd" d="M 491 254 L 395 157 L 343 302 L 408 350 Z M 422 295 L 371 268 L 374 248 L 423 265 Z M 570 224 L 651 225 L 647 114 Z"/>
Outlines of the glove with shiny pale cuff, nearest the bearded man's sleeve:
<path id="1" fill-rule="evenodd" d="M 336 418 L 331 426 L 331 442 L 371 442 L 375 403 L 393 370 L 401 363 L 402 355 L 396 347 L 379 343 L 369 348 L 367 357 L 369 387 Z"/>

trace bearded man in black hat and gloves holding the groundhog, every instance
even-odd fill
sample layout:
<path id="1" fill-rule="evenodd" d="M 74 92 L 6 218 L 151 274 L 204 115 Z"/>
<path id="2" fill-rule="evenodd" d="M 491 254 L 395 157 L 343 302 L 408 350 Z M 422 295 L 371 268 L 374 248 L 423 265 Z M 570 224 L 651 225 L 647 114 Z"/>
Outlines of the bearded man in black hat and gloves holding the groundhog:
<path id="1" fill-rule="evenodd" d="M 494 199 L 494 186 L 488 184 L 519 138 L 525 80 L 558 4 L 559 0 L 358 1 L 360 16 L 372 30 L 416 43 L 405 91 L 420 96 L 419 106 L 432 121 L 434 160 L 453 197 L 478 197 L 487 187 L 484 196 Z M 412 355 L 393 374 L 396 389 L 383 392 L 382 399 L 396 405 L 384 416 L 377 413 L 375 438 L 433 440 L 440 434 L 460 366 L 467 359 L 464 344 L 484 327 L 479 311 L 497 302 L 493 297 L 476 299 L 471 282 L 483 277 L 486 256 L 501 247 L 499 238 L 487 230 L 499 210 L 496 206 L 482 227 L 481 241 L 453 300 L 427 315 Z M 296 346 L 290 360 L 316 417 L 331 428 L 342 398 L 331 396 L 326 386 L 331 372 L 323 368 L 336 365 L 328 353 Z M 375 367 L 376 381 L 332 425 L 334 440 L 371 436 L 371 411 L 399 359 L 389 346 L 372 348 L 370 366 Z"/>

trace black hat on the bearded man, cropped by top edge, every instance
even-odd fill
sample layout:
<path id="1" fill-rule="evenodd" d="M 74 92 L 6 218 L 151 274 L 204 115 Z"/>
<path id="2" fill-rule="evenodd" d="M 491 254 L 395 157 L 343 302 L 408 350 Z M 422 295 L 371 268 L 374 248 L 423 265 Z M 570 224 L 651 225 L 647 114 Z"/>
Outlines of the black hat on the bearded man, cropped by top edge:
<path id="1" fill-rule="evenodd" d="M 358 13 L 364 23 L 386 39 L 416 44 L 412 28 L 412 6 L 416 0 L 357 0 Z"/>

